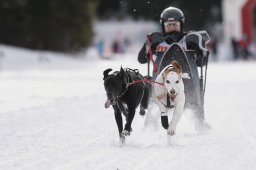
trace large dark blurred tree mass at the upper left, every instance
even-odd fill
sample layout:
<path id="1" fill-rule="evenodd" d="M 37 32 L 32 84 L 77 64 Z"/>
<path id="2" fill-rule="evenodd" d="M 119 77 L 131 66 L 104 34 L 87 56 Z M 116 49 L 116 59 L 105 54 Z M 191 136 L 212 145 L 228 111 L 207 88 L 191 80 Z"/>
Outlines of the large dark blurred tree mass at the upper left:
<path id="1" fill-rule="evenodd" d="M 53 51 L 78 51 L 93 37 L 96 0 L 2 0 L 0 42 Z"/>

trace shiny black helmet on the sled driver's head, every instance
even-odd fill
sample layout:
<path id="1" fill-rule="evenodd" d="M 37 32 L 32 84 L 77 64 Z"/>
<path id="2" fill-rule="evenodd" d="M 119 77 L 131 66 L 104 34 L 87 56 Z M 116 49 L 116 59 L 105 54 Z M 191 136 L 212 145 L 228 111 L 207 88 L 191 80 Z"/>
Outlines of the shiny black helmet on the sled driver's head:
<path id="1" fill-rule="evenodd" d="M 165 21 L 180 21 L 180 25 L 181 25 L 181 31 L 183 29 L 183 25 L 185 23 L 185 17 L 183 12 L 175 7 L 169 7 L 166 8 L 165 10 L 163 10 L 163 12 L 161 13 L 160 16 L 160 24 L 162 26 L 162 31 L 164 31 L 164 22 Z"/>

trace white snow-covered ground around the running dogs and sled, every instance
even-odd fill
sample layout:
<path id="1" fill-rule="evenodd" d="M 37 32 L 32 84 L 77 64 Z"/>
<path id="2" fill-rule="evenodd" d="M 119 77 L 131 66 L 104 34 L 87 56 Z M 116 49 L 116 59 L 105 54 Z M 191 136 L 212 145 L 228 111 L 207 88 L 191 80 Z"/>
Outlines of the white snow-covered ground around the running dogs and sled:
<path id="1" fill-rule="evenodd" d="M 75 58 L 3 45 L 0 52 L 0 169 L 256 169 L 255 61 L 209 64 L 211 131 L 197 132 L 186 111 L 167 140 L 137 112 L 121 145 L 102 72 L 122 65 L 146 74 L 135 53 L 101 60 L 93 50 Z"/>

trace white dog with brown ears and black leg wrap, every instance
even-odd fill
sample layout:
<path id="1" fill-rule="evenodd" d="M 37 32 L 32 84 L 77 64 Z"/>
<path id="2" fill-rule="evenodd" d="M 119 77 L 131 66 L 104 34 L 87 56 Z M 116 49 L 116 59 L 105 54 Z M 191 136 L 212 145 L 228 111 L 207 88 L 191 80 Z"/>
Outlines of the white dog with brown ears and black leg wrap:
<path id="1" fill-rule="evenodd" d="M 154 99 L 161 111 L 161 123 L 168 135 L 174 135 L 185 105 L 182 70 L 178 62 L 173 61 L 166 66 L 156 78 L 162 85 L 154 85 Z M 185 77 L 185 76 L 184 76 Z M 188 77 L 187 77 L 188 78 Z M 168 111 L 174 109 L 173 117 L 168 122 Z"/>

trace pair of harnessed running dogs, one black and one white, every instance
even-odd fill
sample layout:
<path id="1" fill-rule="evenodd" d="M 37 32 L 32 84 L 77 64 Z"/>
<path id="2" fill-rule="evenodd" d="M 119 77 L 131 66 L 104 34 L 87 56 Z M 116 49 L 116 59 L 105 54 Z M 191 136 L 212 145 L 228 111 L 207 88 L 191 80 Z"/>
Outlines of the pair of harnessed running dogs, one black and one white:
<path id="1" fill-rule="evenodd" d="M 112 105 L 114 109 L 121 142 L 124 142 L 125 137 L 132 131 L 131 125 L 136 108 L 140 106 L 139 113 L 144 115 L 145 109 L 149 106 L 150 96 L 159 107 L 162 127 L 167 130 L 169 136 L 174 135 L 185 104 L 182 79 L 189 78 L 184 76 L 179 63 L 172 61 L 158 74 L 155 81 L 143 77 L 138 70 L 124 70 L 121 67 L 120 71 L 109 74 L 111 71 L 112 69 L 107 69 L 103 72 L 107 94 L 105 107 Z M 170 109 L 173 110 L 173 116 L 169 122 Z M 126 119 L 124 127 L 122 114 Z"/>

